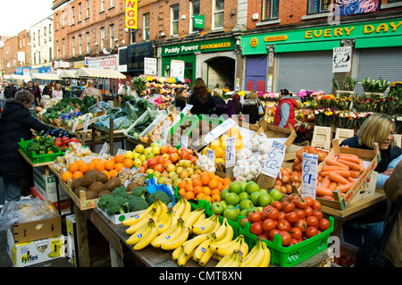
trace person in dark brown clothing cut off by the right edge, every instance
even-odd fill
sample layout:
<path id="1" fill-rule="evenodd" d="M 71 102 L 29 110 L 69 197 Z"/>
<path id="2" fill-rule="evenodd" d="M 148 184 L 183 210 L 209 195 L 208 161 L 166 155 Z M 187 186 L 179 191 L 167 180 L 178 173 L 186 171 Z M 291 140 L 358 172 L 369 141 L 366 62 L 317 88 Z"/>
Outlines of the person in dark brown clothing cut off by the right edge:
<path id="1" fill-rule="evenodd" d="M 389 179 L 385 181 L 384 191 L 385 196 L 391 203 L 390 216 L 393 214 L 396 206 L 402 198 L 402 162 L 399 162 L 394 169 L 394 172 L 389 176 Z M 402 266 L 402 211 L 398 213 L 397 221 L 392 228 L 387 245 L 384 249 L 384 256 L 388 257 L 392 264 L 397 267 Z"/>

